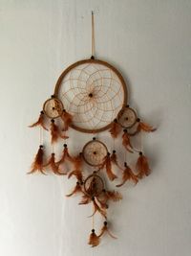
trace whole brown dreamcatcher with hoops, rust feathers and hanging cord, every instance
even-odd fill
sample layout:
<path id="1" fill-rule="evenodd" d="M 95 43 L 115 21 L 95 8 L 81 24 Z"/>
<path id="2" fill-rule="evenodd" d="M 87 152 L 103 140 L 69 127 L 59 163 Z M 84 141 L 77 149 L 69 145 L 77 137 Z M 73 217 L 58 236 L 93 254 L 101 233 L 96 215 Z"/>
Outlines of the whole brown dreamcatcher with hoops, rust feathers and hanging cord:
<path id="1" fill-rule="evenodd" d="M 126 181 L 137 184 L 139 179 L 150 174 L 147 157 L 141 147 L 140 150 L 135 149 L 132 140 L 138 133 L 155 130 L 138 117 L 135 109 L 127 105 L 126 83 L 117 69 L 105 61 L 95 59 L 94 53 L 92 13 L 92 57 L 75 62 L 61 74 L 53 96 L 44 103 L 36 123 L 30 126 L 39 127 L 40 134 L 43 130 L 49 130 L 51 144 L 63 141 L 63 151 L 56 157 L 54 151 L 51 156 L 47 156 L 41 135 L 40 146 L 29 173 L 45 175 L 48 168 L 54 175 L 67 175 L 76 179 L 74 189 L 67 197 L 80 194 L 80 205 L 93 206 L 91 217 L 94 219 L 97 213 L 103 218 L 99 232 L 93 221 L 89 238 L 92 246 L 98 245 L 104 234 L 116 238 L 108 224 L 107 209 L 111 201 L 117 202 L 122 198 L 118 187 Z M 94 134 L 108 130 L 114 140 L 121 140 L 124 151 L 129 153 L 128 157 L 132 153 L 138 154 L 136 169 L 133 171 L 126 161 L 124 164 L 119 163 L 116 149 L 109 151 L 96 137 L 88 141 L 77 155 L 71 155 L 66 144 L 69 128 Z M 66 172 L 66 163 L 71 166 L 70 172 Z M 116 182 L 115 190 L 107 189 L 106 179 Z"/>

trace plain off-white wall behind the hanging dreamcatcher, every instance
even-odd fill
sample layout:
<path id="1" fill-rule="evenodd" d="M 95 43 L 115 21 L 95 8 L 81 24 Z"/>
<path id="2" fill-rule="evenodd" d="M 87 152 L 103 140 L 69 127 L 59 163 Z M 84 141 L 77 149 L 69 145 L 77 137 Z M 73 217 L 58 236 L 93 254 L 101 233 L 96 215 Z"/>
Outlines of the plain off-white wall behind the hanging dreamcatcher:
<path id="1" fill-rule="evenodd" d="M 159 127 L 144 139 L 152 175 L 122 189 L 110 210 L 118 239 L 94 250 L 89 207 L 64 197 L 71 184 L 26 175 L 38 147 L 27 126 L 62 70 L 90 57 L 92 10 L 97 57 L 117 66 L 131 105 Z M 189 0 L 0 0 L 0 255 L 190 255 L 190 24 Z"/>

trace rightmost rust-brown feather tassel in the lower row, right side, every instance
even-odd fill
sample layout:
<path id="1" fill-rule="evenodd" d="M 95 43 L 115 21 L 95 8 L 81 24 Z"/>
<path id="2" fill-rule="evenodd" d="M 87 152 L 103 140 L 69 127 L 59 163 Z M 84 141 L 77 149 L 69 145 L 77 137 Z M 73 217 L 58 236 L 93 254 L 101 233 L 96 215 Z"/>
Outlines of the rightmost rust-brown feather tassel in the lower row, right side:
<path id="1" fill-rule="evenodd" d="M 139 152 L 139 157 L 138 157 L 138 162 L 136 167 L 138 170 L 138 178 L 142 178 L 144 175 L 148 176 L 151 173 L 148 160 L 146 156 L 142 154 L 141 151 Z"/>

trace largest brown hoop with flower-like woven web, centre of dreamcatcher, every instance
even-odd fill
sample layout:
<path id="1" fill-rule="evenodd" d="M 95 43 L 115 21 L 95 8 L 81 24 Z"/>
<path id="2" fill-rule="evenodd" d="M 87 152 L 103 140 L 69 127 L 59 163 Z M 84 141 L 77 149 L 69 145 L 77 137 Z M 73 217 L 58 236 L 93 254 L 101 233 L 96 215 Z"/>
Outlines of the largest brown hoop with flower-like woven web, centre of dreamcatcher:
<path id="1" fill-rule="evenodd" d="M 56 82 L 54 95 L 73 115 L 71 127 L 88 133 L 110 128 L 127 104 L 121 74 L 111 64 L 94 58 L 69 66 Z"/>

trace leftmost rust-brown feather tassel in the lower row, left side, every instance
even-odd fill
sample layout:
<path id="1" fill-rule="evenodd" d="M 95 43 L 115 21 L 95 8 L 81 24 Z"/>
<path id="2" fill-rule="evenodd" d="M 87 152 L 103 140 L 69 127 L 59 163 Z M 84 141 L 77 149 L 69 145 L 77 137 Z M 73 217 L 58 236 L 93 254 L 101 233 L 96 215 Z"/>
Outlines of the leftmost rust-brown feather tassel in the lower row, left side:
<path id="1" fill-rule="evenodd" d="M 43 166 L 43 156 L 44 156 L 44 151 L 43 151 L 43 146 L 39 146 L 39 150 L 37 151 L 34 161 L 32 163 L 32 170 L 28 174 L 31 175 L 37 171 L 39 171 L 41 174 L 46 175 L 44 173 L 44 166 Z"/>

